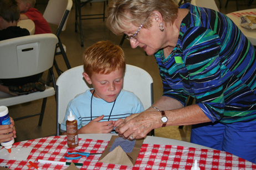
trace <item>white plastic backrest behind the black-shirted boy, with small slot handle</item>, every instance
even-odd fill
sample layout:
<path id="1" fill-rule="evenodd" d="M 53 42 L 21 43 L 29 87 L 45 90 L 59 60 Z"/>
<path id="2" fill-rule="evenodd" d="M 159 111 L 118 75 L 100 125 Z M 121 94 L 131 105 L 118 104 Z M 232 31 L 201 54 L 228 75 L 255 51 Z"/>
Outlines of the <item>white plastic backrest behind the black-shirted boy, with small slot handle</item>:
<path id="1" fill-rule="evenodd" d="M 54 34 L 28 35 L 0 41 L 0 79 L 36 75 L 53 66 Z"/>

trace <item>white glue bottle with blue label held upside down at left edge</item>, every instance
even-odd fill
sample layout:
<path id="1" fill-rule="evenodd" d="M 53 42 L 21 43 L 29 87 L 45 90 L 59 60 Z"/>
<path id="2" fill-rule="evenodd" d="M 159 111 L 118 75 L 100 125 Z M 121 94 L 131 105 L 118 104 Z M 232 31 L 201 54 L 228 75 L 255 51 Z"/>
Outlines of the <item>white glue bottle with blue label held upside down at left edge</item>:
<path id="1" fill-rule="evenodd" d="M 9 117 L 8 108 L 6 106 L 0 106 L 0 125 L 10 125 L 11 119 Z M 8 150 L 9 153 L 12 152 L 12 144 L 14 139 L 8 142 L 1 142 L 1 145 Z"/>

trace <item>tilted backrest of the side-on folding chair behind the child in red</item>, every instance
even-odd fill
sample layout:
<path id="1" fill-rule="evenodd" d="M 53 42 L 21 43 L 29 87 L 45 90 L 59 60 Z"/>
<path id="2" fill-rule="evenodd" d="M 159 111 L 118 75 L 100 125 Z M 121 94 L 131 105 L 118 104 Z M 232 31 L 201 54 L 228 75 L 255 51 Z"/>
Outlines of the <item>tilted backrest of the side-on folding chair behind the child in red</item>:
<path id="1" fill-rule="evenodd" d="M 72 4 L 72 0 L 49 0 L 43 17 L 48 23 L 59 25 L 58 28 L 64 31 Z"/>

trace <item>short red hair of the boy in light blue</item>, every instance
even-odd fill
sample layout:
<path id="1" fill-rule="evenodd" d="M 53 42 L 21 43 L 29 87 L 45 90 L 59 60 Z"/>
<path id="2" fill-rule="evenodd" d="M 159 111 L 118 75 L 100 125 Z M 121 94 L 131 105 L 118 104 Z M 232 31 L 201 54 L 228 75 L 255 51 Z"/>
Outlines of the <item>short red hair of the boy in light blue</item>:
<path id="1" fill-rule="evenodd" d="M 84 72 L 89 77 L 93 73 L 109 74 L 120 68 L 125 71 L 125 55 L 121 47 L 110 41 L 99 41 L 88 47 L 83 55 Z"/>

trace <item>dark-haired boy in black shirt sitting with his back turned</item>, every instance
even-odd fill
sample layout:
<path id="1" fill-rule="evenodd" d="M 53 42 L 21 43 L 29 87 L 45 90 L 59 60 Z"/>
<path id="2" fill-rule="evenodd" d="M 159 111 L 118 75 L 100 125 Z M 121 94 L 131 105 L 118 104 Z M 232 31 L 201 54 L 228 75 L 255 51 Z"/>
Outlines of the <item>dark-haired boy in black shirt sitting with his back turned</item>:
<path id="1" fill-rule="evenodd" d="M 15 0 L 0 1 L 0 41 L 29 35 L 27 29 L 17 26 L 20 11 Z M 16 96 L 44 91 L 43 73 L 22 78 L 0 79 L 0 91 Z"/>

